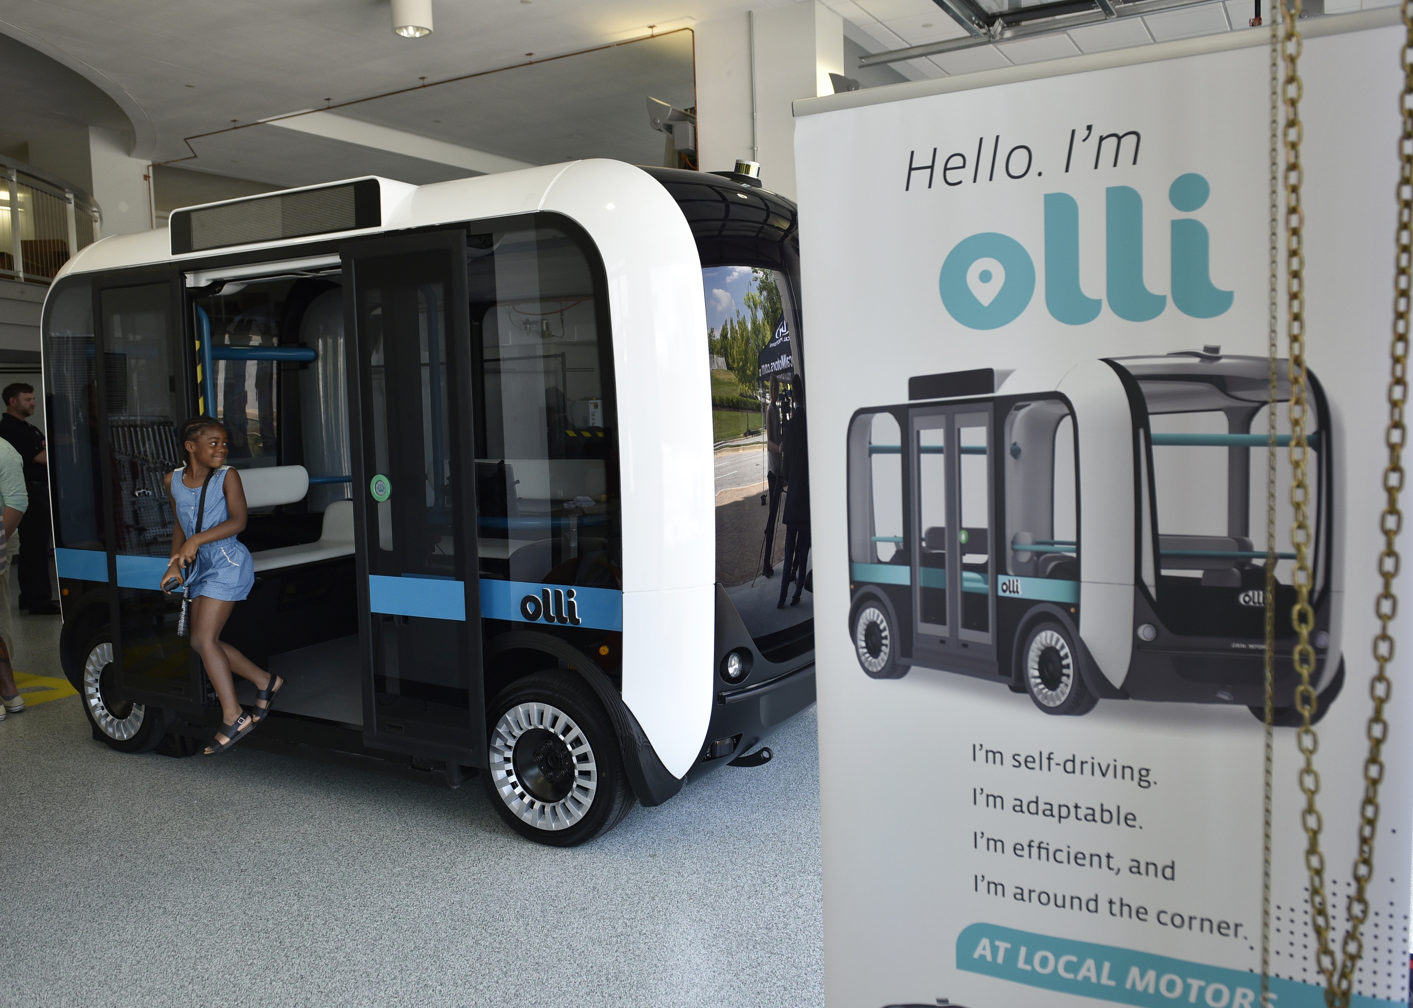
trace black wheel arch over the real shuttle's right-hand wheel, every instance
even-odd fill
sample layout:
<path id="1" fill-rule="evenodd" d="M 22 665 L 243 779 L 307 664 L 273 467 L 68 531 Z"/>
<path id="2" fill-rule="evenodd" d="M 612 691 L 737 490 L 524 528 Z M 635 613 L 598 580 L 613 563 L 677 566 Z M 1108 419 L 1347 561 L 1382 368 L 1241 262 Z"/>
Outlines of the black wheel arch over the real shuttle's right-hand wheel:
<path id="1" fill-rule="evenodd" d="M 543 660 L 537 663 L 533 657 L 528 664 L 504 660 L 516 652 L 530 656 L 538 655 L 543 659 L 550 659 L 550 663 Z M 502 660 L 497 662 L 497 659 Z M 613 724 L 613 731 L 619 739 L 619 751 L 623 756 L 623 772 L 627 775 L 629 785 L 633 787 L 639 803 L 644 807 L 653 807 L 682 789 L 682 780 L 674 778 L 663 766 L 663 761 L 658 759 L 657 751 L 647 738 L 647 732 L 643 731 L 637 718 L 633 717 L 633 711 L 623 703 L 623 696 L 613 684 L 613 680 L 608 677 L 593 659 L 578 647 L 550 633 L 512 631 L 486 643 L 486 666 L 487 698 L 499 694 L 500 690 L 516 680 L 547 667 L 564 667 L 577 673 L 593 690 L 593 696 L 603 704 L 603 710 Z M 489 674 L 492 669 L 497 670 L 493 680 Z"/>

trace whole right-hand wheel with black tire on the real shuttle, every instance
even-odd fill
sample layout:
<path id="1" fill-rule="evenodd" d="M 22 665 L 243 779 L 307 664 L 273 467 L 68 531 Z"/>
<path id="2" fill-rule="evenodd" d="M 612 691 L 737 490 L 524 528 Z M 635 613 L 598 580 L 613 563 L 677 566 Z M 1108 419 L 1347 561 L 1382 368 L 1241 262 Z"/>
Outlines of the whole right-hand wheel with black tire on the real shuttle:
<path id="1" fill-rule="evenodd" d="M 619 739 L 603 705 L 572 672 L 516 680 L 490 705 L 486 795 L 526 840 L 575 847 L 633 807 Z"/>

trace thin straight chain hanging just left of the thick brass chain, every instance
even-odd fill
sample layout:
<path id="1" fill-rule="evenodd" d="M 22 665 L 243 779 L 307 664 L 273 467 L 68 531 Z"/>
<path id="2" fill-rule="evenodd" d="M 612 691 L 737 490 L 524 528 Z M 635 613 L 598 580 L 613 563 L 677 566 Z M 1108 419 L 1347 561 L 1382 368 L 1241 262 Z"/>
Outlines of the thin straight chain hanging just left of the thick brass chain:
<path id="1" fill-rule="evenodd" d="M 1266 749 L 1262 775 L 1260 1004 L 1270 1008 L 1270 823 L 1276 722 L 1276 400 L 1280 380 L 1280 6 L 1270 7 L 1270 280 L 1266 321 Z"/>

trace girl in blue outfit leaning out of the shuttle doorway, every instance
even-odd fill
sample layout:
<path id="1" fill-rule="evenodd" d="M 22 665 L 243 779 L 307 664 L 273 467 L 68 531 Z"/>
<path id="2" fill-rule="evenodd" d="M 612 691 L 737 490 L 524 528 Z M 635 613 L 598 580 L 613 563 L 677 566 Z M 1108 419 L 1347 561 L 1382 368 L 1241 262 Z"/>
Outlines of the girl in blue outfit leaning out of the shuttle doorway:
<path id="1" fill-rule="evenodd" d="M 256 582 L 254 560 L 236 536 L 246 527 L 246 492 L 240 474 L 226 465 L 226 428 L 219 420 L 194 417 L 182 424 L 181 438 L 187 465 L 165 478 L 177 522 L 172 526 L 172 558 L 162 574 L 161 588 L 171 592 L 184 585 L 191 604 L 191 646 L 201 655 L 216 696 L 222 725 L 206 755 L 225 752 L 250 734 L 268 713 L 284 680 L 256 666 L 239 650 L 220 640 L 220 631 L 236 602 Z M 202 486 L 206 502 L 202 508 Z M 201 532 L 196 512 L 201 513 Z M 246 714 L 236 700 L 230 673 L 256 684 L 256 710 Z"/>

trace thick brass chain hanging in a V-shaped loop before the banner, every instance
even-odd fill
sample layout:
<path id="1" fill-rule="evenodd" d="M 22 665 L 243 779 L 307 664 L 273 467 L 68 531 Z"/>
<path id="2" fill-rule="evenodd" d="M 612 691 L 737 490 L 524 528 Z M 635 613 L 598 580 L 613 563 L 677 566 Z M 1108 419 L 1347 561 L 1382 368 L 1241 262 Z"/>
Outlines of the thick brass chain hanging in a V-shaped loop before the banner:
<path id="1" fill-rule="evenodd" d="M 1310 485 L 1308 485 L 1308 441 L 1306 437 L 1306 420 L 1308 416 L 1307 372 L 1304 361 L 1304 260 L 1301 247 L 1303 216 L 1300 205 L 1300 98 L 1301 82 L 1297 72 L 1301 40 L 1297 21 L 1300 18 L 1300 0 L 1291 0 L 1286 6 L 1283 0 L 1284 33 L 1282 35 L 1282 58 L 1286 66 L 1286 76 L 1282 85 L 1284 100 L 1286 126 L 1286 294 L 1289 297 L 1289 335 L 1290 335 L 1290 462 L 1294 469 L 1290 488 L 1290 499 L 1294 506 L 1294 526 L 1291 540 L 1296 547 L 1296 605 L 1291 611 L 1291 622 L 1297 633 L 1297 642 L 1291 655 L 1296 672 L 1300 674 L 1300 686 L 1296 687 L 1296 708 L 1301 715 L 1301 725 L 1296 735 L 1296 742 L 1304 756 L 1304 766 L 1300 770 L 1300 789 L 1306 796 L 1306 807 L 1301 813 L 1301 826 L 1306 830 L 1306 869 L 1310 874 L 1310 919 L 1318 943 L 1317 966 L 1325 980 L 1325 1005 L 1328 1008 L 1348 1008 L 1354 992 L 1354 974 L 1364 956 L 1364 939 L 1361 930 L 1368 920 L 1368 884 L 1373 877 L 1373 841 L 1378 836 L 1379 821 L 1379 785 L 1383 782 L 1383 744 L 1388 739 L 1388 721 L 1383 717 L 1383 707 L 1392 694 L 1392 683 L 1388 676 L 1388 664 L 1393 659 L 1393 638 L 1389 626 L 1397 615 L 1397 597 L 1393 594 L 1393 578 L 1399 573 L 1397 534 L 1403 527 L 1403 515 L 1399 510 L 1399 493 L 1403 489 L 1403 441 L 1407 428 L 1403 423 L 1403 403 L 1407 399 L 1407 346 L 1409 346 L 1409 308 L 1410 283 L 1413 283 L 1413 0 L 1403 0 L 1403 24 L 1406 38 L 1399 58 L 1403 64 L 1403 92 L 1400 96 L 1400 115 L 1403 131 L 1399 139 L 1399 235 L 1397 256 L 1395 260 L 1395 297 L 1393 297 L 1393 339 L 1390 344 L 1390 379 L 1389 379 L 1389 424 L 1385 431 L 1385 444 L 1389 450 L 1389 461 L 1383 471 L 1383 491 L 1386 495 L 1385 508 L 1379 516 L 1379 530 L 1383 533 L 1383 550 L 1379 553 L 1379 577 L 1382 591 L 1375 601 L 1375 615 L 1379 618 L 1379 633 L 1373 639 L 1373 657 L 1378 670 L 1369 683 L 1369 694 L 1373 700 L 1373 713 L 1365 735 L 1369 741 L 1369 752 L 1364 761 L 1364 799 L 1359 806 L 1358 857 L 1354 864 L 1354 892 L 1349 895 L 1347 916 L 1348 929 L 1340 947 L 1340 961 L 1330 947 L 1330 908 L 1325 898 L 1324 854 L 1320 850 L 1321 819 L 1316 807 L 1316 796 L 1320 792 L 1320 775 L 1314 769 L 1314 754 L 1320 739 L 1311 722 L 1318 707 L 1316 691 L 1310 684 L 1314 673 L 1314 649 L 1310 646 L 1310 631 L 1314 626 L 1314 611 L 1310 608 L 1311 570 L 1310 570 Z M 1338 967 L 1338 975 L 1337 974 Z"/>

